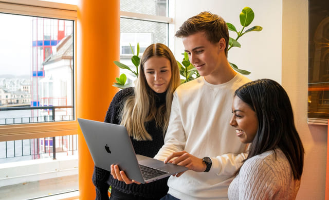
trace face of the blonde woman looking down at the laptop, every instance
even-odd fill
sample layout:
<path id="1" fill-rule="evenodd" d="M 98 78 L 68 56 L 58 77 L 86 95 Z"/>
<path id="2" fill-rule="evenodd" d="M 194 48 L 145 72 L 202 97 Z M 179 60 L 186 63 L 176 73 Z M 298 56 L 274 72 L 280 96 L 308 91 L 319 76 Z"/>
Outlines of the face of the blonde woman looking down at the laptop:
<path id="1" fill-rule="evenodd" d="M 150 88 L 156 93 L 166 92 L 171 80 L 171 65 L 166 57 L 153 56 L 144 63 L 144 74 Z"/>

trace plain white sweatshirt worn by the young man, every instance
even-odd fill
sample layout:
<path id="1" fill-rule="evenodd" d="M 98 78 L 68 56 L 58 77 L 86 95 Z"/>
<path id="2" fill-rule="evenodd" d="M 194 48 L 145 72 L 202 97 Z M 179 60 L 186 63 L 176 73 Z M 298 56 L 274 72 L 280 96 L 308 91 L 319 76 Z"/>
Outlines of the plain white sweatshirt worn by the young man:
<path id="1" fill-rule="evenodd" d="M 188 170 L 171 176 L 169 194 L 179 199 L 227 199 L 232 175 L 240 167 L 246 145 L 230 126 L 234 91 L 250 82 L 237 73 L 229 82 L 212 85 L 199 77 L 174 92 L 165 145 L 155 156 L 164 160 L 172 152 L 185 150 L 212 160 L 209 172 Z"/>

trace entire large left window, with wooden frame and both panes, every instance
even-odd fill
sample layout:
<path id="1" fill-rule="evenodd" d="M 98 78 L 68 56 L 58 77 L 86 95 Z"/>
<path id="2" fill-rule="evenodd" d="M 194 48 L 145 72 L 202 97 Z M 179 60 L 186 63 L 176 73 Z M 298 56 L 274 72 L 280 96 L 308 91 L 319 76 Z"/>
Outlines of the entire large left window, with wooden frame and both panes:
<path id="1" fill-rule="evenodd" d="M 77 7 L 17 2 L 0 2 L 6 30 L 0 32 L 0 170 L 7 174 L 0 187 L 75 175 L 74 187 L 33 190 L 41 196 L 77 190 Z"/>

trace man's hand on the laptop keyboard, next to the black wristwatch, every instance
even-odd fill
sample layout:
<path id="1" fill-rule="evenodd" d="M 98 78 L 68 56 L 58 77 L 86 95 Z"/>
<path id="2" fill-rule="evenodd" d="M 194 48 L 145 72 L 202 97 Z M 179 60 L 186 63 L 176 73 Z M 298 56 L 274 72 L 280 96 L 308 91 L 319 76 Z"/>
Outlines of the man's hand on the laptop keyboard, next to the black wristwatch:
<path id="1" fill-rule="evenodd" d="M 176 157 L 172 160 L 172 158 Z M 201 158 L 195 157 L 186 151 L 179 151 L 170 154 L 164 161 L 165 163 L 172 163 L 180 166 L 185 166 L 189 168 L 189 170 L 193 170 L 196 172 L 203 172 L 206 170 L 207 166 L 203 163 Z M 185 172 L 185 171 L 184 171 Z M 174 176 L 179 177 L 184 172 L 180 172 Z"/>

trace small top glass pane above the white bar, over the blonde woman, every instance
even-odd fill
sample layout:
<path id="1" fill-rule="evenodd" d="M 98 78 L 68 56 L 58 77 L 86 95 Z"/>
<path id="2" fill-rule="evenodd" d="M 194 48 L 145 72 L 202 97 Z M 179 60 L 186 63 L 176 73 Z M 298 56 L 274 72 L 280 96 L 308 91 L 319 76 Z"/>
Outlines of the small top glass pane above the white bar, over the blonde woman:
<path id="1" fill-rule="evenodd" d="M 142 14 L 168 16 L 167 0 L 121 0 L 120 10 L 126 12 L 136 12 Z"/>

